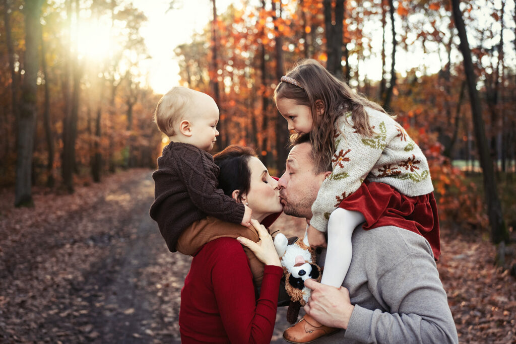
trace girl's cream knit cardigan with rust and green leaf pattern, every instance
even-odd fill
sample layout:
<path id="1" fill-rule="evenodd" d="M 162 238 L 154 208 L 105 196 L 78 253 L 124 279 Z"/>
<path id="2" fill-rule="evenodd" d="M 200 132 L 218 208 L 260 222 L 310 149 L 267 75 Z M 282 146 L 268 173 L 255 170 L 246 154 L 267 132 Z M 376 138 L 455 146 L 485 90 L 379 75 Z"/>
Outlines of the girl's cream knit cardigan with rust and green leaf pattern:
<path id="1" fill-rule="evenodd" d="M 410 197 L 433 191 L 428 162 L 405 129 L 383 112 L 372 108 L 366 112 L 374 137 L 357 133 L 351 112 L 337 119 L 333 172 L 312 205 L 310 224 L 321 232 L 327 231 L 331 212 L 364 180 L 389 184 Z"/>

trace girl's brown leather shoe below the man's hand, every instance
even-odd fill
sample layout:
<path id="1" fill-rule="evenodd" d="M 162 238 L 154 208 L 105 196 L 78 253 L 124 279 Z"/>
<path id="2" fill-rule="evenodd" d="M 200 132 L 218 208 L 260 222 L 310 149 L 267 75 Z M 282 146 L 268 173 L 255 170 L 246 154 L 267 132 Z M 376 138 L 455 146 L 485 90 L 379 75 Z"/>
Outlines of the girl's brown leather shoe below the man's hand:
<path id="1" fill-rule="evenodd" d="M 339 329 L 321 324 L 308 314 L 297 324 L 283 332 L 283 339 L 291 343 L 310 343 L 322 336 L 334 334 Z"/>

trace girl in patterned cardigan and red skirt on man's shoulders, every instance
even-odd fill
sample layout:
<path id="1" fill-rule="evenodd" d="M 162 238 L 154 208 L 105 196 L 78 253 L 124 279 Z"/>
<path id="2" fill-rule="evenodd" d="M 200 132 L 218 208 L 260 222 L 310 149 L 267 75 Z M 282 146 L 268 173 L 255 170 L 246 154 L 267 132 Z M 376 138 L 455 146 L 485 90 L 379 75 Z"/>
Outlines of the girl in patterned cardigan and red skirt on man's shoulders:
<path id="1" fill-rule="evenodd" d="M 365 230 L 393 225 L 422 235 L 438 259 L 439 220 L 428 162 L 393 117 L 312 59 L 281 78 L 274 99 L 288 129 L 310 134 L 317 165 L 332 171 L 307 229 L 312 246 L 327 242 L 321 283 L 342 285 L 351 263 L 351 235 L 364 221 Z M 305 322 L 320 326 L 305 315 L 285 331 L 285 339 L 306 342 L 299 336 L 304 331 L 297 331 Z"/>

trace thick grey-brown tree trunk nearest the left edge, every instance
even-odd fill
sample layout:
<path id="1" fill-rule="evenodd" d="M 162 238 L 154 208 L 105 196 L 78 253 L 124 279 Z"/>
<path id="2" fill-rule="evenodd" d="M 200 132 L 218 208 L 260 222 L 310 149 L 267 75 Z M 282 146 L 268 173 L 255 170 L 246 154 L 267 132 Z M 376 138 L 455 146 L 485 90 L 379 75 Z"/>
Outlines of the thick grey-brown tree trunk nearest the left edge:
<path id="1" fill-rule="evenodd" d="M 34 133 L 36 128 L 36 94 L 39 67 L 38 42 L 42 0 L 25 3 L 25 75 L 22 84 L 14 205 L 34 204 L 31 191 L 31 165 L 33 161 Z"/>

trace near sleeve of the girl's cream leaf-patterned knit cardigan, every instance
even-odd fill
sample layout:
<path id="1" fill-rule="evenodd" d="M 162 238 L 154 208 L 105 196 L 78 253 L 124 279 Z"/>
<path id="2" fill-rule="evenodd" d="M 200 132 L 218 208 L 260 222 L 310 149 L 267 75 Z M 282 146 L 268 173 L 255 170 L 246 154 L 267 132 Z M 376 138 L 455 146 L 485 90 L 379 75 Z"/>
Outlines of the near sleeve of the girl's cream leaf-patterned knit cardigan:
<path id="1" fill-rule="evenodd" d="M 348 119 L 351 121 L 351 119 Z M 367 174 L 375 166 L 385 148 L 385 125 L 374 128 L 373 138 L 364 138 L 356 132 L 344 116 L 337 123 L 342 133 L 335 139 L 335 154 L 331 163 L 333 171 L 322 183 L 317 199 L 312 205 L 310 224 L 318 231 L 326 232 L 328 219 L 333 210 L 347 196 L 357 191 Z"/>

